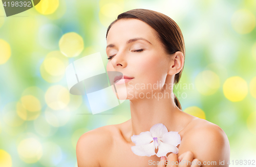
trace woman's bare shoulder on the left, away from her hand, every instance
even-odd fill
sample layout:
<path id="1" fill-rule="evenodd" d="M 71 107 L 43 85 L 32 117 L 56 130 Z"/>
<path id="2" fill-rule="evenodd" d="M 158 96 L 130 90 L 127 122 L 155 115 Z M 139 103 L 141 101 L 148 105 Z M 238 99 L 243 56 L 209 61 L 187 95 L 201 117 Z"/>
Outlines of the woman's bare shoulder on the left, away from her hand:
<path id="1" fill-rule="evenodd" d="M 78 167 L 100 166 L 103 153 L 113 145 L 113 128 L 107 125 L 82 134 L 76 145 Z"/>

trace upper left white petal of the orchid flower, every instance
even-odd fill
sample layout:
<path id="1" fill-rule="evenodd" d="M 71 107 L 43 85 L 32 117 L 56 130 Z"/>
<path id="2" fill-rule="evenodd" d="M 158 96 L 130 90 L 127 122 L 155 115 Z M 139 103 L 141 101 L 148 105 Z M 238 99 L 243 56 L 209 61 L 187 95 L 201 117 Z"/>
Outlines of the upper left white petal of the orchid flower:
<path id="1" fill-rule="evenodd" d="M 132 142 L 135 143 L 136 146 L 150 144 L 150 142 L 153 141 L 153 137 L 152 137 L 150 131 L 141 132 L 138 135 L 134 134 L 131 137 L 131 139 L 132 139 Z"/>

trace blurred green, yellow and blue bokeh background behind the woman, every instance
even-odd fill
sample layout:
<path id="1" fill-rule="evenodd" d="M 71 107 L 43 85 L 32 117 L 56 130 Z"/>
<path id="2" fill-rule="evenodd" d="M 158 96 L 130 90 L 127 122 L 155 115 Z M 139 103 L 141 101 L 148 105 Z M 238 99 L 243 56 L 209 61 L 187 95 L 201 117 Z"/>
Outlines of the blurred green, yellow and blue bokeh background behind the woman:
<path id="1" fill-rule="evenodd" d="M 129 101 L 106 111 L 109 115 L 87 115 L 91 113 L 87 97 L 71 94 L 65 108 L 51 109 L 46 93 L 56 87 L 68 91 L 66 76 L 49 81 L 42 77 L 40 67 L 48 53 L 59 50 L 60 38 L 70 32 L 82 37 L 84 49 L 74 58 L 63 55 L 66 64 L 100 52 L 106 65 L 107 26 L 118 14 L 136 8 L 164 13 L 180 26 L 186 46 L 180 85 L 193 84 L 189 89 L 175 90 L 184 95 L 179 98 L 182 109 L 197 106 L 207 121 L 225 131 L 230 160 L 256 160 L 256 1 L 55 2 L 59 5 L 52 14 L 44 15 L 32 8 L 10 17 L 5 17 L 0 3 L 0 39 L 11 47 L 11 57 L 0 64 L 0 164 L 5 161 L 1 159 L 5 154 L 12 162 L 6 166 L 77 166 L 75 145 L 81 134 L 131 118 Z M 0 50 L 0 58 L 4 54 Z M 205 71 L 208 73 L 203 75 Z M 233 89 L 233 96 L 238 95 L 236 99 L 241 97 L 237 101 L 225 96 L 223 87 L 234 76 L 244 83 L 239 85 L 235 79 L 227 84 Z M 21 99 L 26 95 L 36 97 L 41 106 L 34 113 L 27 112 L 30 120 L 20 117 L 17 109 L 17 104 L 24 105 Z M 28 151 L 38 151 L 33 152 L 31 159 L 29 153 L 25 155 L 23 147 L 28 145 L 24 141 L 32 143 L 33 148 Z"/>

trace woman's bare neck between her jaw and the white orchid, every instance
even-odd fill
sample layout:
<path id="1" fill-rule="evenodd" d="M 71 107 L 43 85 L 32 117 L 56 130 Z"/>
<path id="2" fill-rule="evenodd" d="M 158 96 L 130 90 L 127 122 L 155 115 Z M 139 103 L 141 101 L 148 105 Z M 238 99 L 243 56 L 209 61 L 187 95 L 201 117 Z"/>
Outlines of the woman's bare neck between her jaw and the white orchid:
<path id="1" fill-rule="evenodd" d="M 177 115 L 182 111 L 173 98 L 143 98 L 130 100 L 132 135 L 138 135 L 157 124 L 164 124 L 168 131 L 179 130 Z"/>

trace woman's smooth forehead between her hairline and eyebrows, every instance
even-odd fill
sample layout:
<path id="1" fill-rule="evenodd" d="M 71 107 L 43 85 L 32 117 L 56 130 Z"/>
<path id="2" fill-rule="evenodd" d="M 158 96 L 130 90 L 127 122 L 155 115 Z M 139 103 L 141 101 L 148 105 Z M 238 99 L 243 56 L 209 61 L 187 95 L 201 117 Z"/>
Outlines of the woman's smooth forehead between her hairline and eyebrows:
<path id="1" fill-rule="evenodd" d="M 107 43 L 127 41 L 133 38 L 146 38 L 153 41 L 157 37 L 156 31 L 144 21 L 138 19 L 120 19 L 109 30 Z"/>

